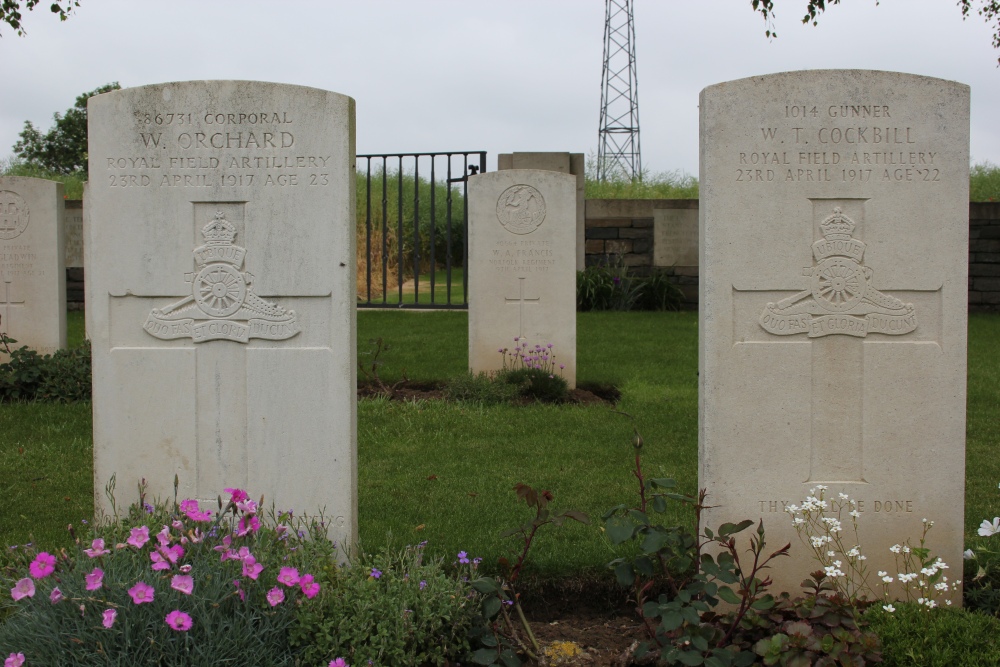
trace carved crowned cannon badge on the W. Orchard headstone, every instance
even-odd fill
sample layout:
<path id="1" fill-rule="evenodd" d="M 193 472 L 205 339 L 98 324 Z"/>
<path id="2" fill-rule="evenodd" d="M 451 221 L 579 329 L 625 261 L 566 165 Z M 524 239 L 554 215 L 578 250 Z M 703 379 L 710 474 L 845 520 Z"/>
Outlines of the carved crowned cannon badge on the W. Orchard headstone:
<path id="1" fill-rule="evenodd" d="M 246 248 L 233 243 L 236 227 L 222 212 L 202 229 L 205 245 L 194 249 L 197 274 L 190 274 L 191 294 L 154 308 L 143 329 L 156 338 L 191 338 L 195 343 L 251 338 L 285 340 L 299 333 L 295 311 L 265 301 L 250 287 L 253 276 L 240 271 Z"/>

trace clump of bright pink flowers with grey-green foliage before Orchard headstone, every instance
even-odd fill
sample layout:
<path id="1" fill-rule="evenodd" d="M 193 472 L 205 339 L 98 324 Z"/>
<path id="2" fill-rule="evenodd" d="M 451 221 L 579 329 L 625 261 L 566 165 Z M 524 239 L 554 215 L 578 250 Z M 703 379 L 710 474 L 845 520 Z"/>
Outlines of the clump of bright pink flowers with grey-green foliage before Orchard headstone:
<path id="1" fill-rule="evenodd" d="M 232 491 L 212 513 L 190 500 L 147 505 L 140 489 L 124 519 L 95 525 L 72 553 L 15 550 L 0 572 L 12 591 L 0 604 L 14 607 L 0 654 L 28 665 L 294 664 L 289 628 L 321 586 L 307 573 L 333 567 L 335 547 L 318 521 L 258 518 Z"/>

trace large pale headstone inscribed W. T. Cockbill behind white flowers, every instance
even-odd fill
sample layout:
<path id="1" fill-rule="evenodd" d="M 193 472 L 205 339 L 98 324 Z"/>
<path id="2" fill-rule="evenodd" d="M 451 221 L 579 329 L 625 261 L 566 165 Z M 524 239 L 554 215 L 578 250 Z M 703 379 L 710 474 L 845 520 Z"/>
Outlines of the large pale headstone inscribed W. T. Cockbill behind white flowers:
<path id="1" fill-rule="evenodd" d="M 699 483 L 710 524 L 763 518 L 771 547 L 792 543 L 778 590 L 819 569 L 783 510 L 820 493 L 845 535 L 857 512 L 870 572 L 895 576 L 890 547 L 928 519 L 961 577 L 968 166 L 959 83 L 808 71 L 702 91 Z"/>

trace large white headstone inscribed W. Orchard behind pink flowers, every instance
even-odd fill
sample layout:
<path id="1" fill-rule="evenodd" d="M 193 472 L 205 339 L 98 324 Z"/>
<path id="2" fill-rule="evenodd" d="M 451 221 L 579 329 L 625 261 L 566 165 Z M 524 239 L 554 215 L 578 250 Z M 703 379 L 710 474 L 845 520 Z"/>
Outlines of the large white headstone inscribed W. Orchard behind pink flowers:
<path id="1" fill-rule="evenodd" d="M 90 99 L 97 502 L 145 478 L 356 537 L 354 101 L 245 81 Z"/>

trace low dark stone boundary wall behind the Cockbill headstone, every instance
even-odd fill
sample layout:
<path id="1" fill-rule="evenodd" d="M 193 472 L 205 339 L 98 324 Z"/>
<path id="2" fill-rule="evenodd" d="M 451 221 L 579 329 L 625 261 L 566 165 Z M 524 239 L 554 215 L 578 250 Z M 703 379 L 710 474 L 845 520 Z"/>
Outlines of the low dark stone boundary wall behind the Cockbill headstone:
<path id="1" fill-rule="evenodd" d="M 667 275 L 684 293 L 684 306 L 698 306 L 697 266 L 657 266 L 656 211 L 697 211 L 697 199 L 588 199 L 586 266 L 620 258 L 638 275 Z M 969 310 L 1000 312 L 1000 202 L 969 203 Z"/>

